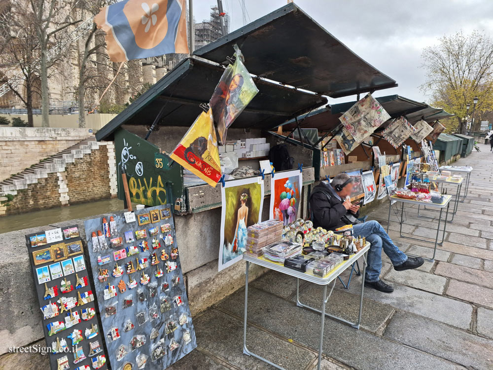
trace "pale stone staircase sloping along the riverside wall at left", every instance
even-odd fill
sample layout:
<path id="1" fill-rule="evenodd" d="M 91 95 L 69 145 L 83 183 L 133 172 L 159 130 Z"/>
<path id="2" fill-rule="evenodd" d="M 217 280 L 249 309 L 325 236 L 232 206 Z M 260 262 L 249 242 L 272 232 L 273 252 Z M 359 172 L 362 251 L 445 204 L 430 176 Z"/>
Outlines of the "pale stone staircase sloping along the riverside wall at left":
<path id="1" fill-rule="evenodd" d="M 67 163 L 73 163 L 76 158 L 83 158 L 85 154 L 90 154 L 92 150 L 98 149 L 100 145 L 106 145 L 106 142 L 98 143 L 95 137 L 89 137 L 57 154 L 42 159 L 39 163 L 0 182 L 0 196 L 6 194 L 16 195 L 17 190 L 27 189 L 30 184 L 36 184 L 38 179 L 48 177 L 49 173 L 65 172 Z M 60 179 L 60 181 L 63 181 L 63 179 Z"/>

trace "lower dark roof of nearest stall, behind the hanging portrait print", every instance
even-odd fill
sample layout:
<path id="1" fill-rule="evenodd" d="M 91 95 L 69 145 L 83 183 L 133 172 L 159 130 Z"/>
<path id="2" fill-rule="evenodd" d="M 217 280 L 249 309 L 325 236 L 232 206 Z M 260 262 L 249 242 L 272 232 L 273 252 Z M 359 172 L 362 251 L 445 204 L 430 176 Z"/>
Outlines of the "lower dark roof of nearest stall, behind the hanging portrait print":
<path id="1" fill-rule="evenodd" d="M 107 140 L 123 124 L 149 126 L 163 107 L 160 125 L 190 126 L 201 112 L 199 104 L 211 99 L 223 71 L 224 67 L 206 60 L 183 60 L 99 130 L 96 139 Z M 231 127 L 267 130 L 327 103 L 325 97 L 311 92 L 254 80 L 259 92 Z"/>

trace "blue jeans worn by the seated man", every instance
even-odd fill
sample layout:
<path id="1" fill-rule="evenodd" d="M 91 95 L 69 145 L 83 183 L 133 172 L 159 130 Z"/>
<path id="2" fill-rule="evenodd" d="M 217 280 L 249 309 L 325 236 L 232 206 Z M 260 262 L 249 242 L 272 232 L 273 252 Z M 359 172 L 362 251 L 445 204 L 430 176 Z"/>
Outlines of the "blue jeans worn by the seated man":
<path id="1" fill-rule="evenodd" d="M 352 225 L 352 231 L 355 237 L 364 236 L 366 241 L 371 243 L 368 251 L 365 281 L 375 282 L 379 280 L 380 270 L 382 270 L 382 248 L 394 266 L 407 261 L 407 256 L 392 242 L 378 221 Z"/>

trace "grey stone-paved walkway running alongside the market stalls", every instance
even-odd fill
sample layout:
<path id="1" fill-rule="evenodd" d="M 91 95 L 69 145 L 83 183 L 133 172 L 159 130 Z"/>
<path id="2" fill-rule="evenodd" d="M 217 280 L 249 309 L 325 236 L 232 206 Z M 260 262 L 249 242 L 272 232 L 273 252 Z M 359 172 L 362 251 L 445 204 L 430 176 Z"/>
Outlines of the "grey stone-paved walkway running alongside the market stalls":
<path id="1" fill-rule="evenodd" d="M 493 154 L 489 146 L 480 147 L 482 152 L 455 163 L 472 165 L 474 172 L 435 262 L 397 272 L 384 256 L 382 277 L 394 293 L 365 290 L 359 331 L 325 320 L 325 370 L 493 369 Z M 387 207 L 369 219 L 385 226 Z M 390 236 L 401 249 L 431 257 L 432 245 L 425 240 L 434 235 L 436 223 L 416 217 L 416 209 L 406 210 L 404 231 L 423 242 L 398 238 L 397 222 L 390 222 Z M 353 278 L 347 291 L 338 282 L 327 312 L 354 320 L 359 284 L 360 277 Z M 320 317 L 296 307 L 295 280 L 270 272 L 250 287 L 249 348 L 286 369 L 316 369 Z M 305 284 L 302 290 L 305 301 L 321 300 L 317 286 Z M 243 354 L 243 310 L 242 289 L 195 317 L 198 348 L 171 369 L 273 369 Z"/>

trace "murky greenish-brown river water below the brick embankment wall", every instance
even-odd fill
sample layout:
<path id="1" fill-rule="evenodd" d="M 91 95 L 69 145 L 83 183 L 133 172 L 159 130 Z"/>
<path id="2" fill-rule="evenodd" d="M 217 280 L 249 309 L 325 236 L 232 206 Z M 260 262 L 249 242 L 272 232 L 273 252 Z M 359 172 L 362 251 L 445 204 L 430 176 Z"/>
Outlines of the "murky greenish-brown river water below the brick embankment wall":
<path id="1" fill-rule="evenodd" d="M 20 215 L 0 217 L 0 234 L 28 227 L 45 226 L 56 222 L 81 219 L 102 213 L 123 210 L 123 201 L 113 198 L 73 206 L 50 208 Z"/>

